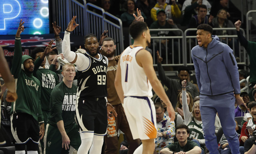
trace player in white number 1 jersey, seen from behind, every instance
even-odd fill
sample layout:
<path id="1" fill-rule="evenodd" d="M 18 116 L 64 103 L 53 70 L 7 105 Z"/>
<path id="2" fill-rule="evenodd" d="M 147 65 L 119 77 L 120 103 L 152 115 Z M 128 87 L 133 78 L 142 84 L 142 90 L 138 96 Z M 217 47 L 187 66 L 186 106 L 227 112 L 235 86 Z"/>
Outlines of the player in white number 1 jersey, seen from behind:
<path id="1" fill-rule="evenodd" d="M 155 107 L 150 99 L 153 96 L 152 87 L 166 103 L 171 121 L 175 118 L 175 112 L 155 74 L 153 58 L 145 50 L 146 46 L 150 46 L 150 32 L 147 24 L 141 21 L 133 22 L 129 31 L 134 44 L 127 47 L 121 54 L 115 77 L 115 88 L 123 103 L 133 139 L 142 140 L 143 154 L 153 154 L 157 130 Z M 134 154 L 141 153 L 140 148 L 137 148 Z"/>

